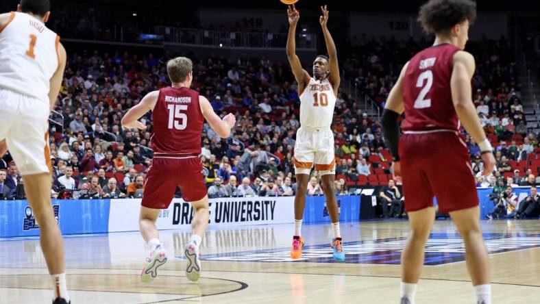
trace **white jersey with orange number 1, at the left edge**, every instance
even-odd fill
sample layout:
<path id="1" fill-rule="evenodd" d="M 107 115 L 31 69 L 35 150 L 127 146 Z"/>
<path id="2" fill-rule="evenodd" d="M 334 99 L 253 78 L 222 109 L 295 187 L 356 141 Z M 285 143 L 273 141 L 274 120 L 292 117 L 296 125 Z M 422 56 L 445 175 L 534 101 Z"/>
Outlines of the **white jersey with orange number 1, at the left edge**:
<path id="1" fill-rule="evenodd" d="M 12 12 L 4 25 L 0 28 L 0 88 L 49 104 L 60 37 L 37 18 L 21 12 Z"/>

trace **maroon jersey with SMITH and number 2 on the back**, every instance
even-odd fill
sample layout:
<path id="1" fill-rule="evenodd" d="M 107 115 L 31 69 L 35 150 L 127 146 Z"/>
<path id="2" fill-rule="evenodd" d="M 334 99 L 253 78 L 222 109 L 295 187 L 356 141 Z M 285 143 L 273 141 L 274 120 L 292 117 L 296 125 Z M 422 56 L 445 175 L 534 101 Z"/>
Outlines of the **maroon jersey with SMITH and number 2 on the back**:
<path id="1" fill-rule="evenodd" d="M 450 90 L 454 53 L 451 44 L 428 47 L 409 62 L 403 79 L 404 131 L 458 130 Z"/>

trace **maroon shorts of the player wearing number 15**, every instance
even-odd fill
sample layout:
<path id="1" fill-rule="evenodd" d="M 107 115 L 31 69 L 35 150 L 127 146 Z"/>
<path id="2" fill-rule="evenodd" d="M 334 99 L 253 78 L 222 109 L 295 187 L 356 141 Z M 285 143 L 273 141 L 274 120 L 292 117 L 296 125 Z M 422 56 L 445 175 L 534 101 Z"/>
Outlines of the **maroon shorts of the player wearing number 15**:
<path id="1" fill-rule="evenodd" d="M 201 171 L 199 157 L 154 157 L 148 171 L 141 205 L 152 209 L 167 209 L 177 186 L 182 190 L 184 201 L 199 201 L 206 196 Z"/>

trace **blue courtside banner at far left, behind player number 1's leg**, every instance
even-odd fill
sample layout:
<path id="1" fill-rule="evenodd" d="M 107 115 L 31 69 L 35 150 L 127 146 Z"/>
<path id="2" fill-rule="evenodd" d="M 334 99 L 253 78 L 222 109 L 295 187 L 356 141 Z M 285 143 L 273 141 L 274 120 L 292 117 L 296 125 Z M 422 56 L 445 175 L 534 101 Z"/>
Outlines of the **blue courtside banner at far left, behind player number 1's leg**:
<path id="1" fill-rule="evenodd" d="M 62 234 L 108 232 L 108 199 L 53 200 L 52 203 Z M 39 225 L 28 201 L 0 202 L 0 238 L 38 235 Z"/>

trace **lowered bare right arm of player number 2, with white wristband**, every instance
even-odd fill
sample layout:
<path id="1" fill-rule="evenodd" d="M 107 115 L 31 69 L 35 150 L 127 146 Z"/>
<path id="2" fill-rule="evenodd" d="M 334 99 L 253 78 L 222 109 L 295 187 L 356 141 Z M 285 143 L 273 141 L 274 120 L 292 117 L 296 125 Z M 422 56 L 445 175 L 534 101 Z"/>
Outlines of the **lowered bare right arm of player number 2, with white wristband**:
<path id="1" fill-rule="evenodd" d="M 472 102 L 471 79 L 474 75 L 475 64 L 474 57 L 466 51 L 458 51 L 454 54 L 454 70 L 450 78 L 450 87 L 452 88 L 452 102 L 459 120 L 463 127 L 478 143 L 482 151 L 482 160 L 484 161 L 483 175 L 489 175 L 493 172 L 495 158 L 493 157 L 491 143 L 480 125 L 476 107 Z"/>

